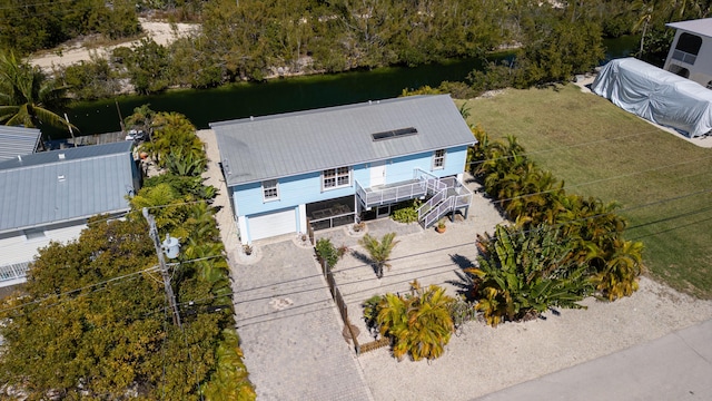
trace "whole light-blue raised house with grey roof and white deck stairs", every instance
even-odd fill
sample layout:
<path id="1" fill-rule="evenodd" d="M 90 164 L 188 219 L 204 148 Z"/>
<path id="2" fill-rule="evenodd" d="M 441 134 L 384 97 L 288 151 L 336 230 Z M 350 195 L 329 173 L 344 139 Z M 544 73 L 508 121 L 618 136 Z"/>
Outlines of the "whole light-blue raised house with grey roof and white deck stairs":
<path id="1" fill-rule="evenodd" d="M 423 198 L 421 223 L 466 213 L 476 140 L 449 96 L 413 96 L 212 123 L 244 244 L 388 215 Z"/>

